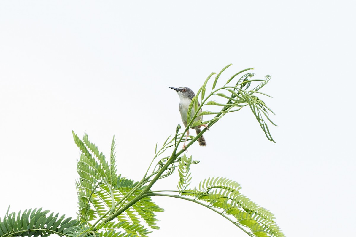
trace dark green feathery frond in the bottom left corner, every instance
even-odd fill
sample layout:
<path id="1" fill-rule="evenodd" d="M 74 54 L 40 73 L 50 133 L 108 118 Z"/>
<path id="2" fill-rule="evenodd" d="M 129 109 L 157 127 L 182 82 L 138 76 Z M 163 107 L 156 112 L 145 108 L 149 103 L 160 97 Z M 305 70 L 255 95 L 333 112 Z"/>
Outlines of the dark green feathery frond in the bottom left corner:
<path id="1" fill-rule="evenodd" d="M 9 207 L 10 209 L 10 207 Z M 19 211 L 8 214 L 9 210 L 3 220 L 0 219 L 0 237 L 12 236 L 49 236 L 57 234 L 60 236 L 68 236 L 68 233 L 74 228 L 81 228 L 78 220 L 72 220 L 72 217 L 64 218 L 64 215 L 58 217 L 57 213 L 49 211 L 42 211 L 40 209 L 29 209 L 22 212 Z"/>

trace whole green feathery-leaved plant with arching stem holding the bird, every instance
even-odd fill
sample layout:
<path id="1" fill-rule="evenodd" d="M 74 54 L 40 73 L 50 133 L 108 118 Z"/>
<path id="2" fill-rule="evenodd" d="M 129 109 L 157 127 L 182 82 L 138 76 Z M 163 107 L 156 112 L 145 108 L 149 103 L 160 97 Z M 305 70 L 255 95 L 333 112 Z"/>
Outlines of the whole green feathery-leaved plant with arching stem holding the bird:
<path id="1" fill-rule="evenodd" d="M 183 149 L 178 149 L 189 127 L 201 124 L 209 124 L 211 127 L 225 114 L 239 111 L 246 106 L 250 107 L 267 139 L 274 142 L 265 122 L 267 119 L 266 121 L 274 125 L 268 117 L 268 112 L 272 111 L 256 96 L 256 94 L 265 95 L 259 90 L 267 84 L 270 76 L 267 75 L 264 80 L 252 80 L 254 74 L 249 72 L 232 83 L 236 76 L 252 68 L 245 69 L 230 77 L 222 87 L 216 87 L 221 73 L 230 65 L 216 75 L 210 93 L 206 92 L 207 85 L 215 73 L 208 76 L 190 104 L 187 128 L 183 133 L 179 133 L 181 127 L 178 125 L 175 135 L 172 138 L 169 136 L 160 149 L 156 144 L 153 160 L 140 181 L 135 182 L 117 173 L 115 138 L 112 139 L 110 158 L 106 158 L 98 147 L 90 142 L 87 134 L 83 139 L 79 139 L 73 132 L 75 144 L 81 150 L 77 164 L 79 174 L 76 182 L 79 205 L 77 220 L 64 219 L 64 216 L 58 218 L 58 214 L 53 213 L 48 215 L 49 211 L 41 209 L 25 210 L 22 214 L 21 212 L 9 214 L 8 211 L 4 219 L 0 219 L 0 237 L 37 237 L 50 234 L 68 237 L 147 236 L 153 229 L 159 228 L 155 213 L 163 211 L 153 203 L 152 196 L 178 198 L 203 205 L 224 216 L 249 236 L 284 236 L 274 222 L 273 214 L 242 195 L 240 184 L 235 181 L 223 177 L 211 177 L 201 181 L 198 187 L 191 188 L 190 165 L 198 164 L 199 161 L 193 160 L 192 156 L 187 157 Z M 256 81 L 261 82 L 252 90 L 248 90 Z M 211 100 L 214 97 L 227 101 L 221 103 Z M 215 115 L 215 117 L 208 121 L 194 122 L 200 108 L 204 106 L 221 109 L 203 110 L 200 114 Z M 203 129 L 195 137 L 189 136 L 190 142 L 187 147 L 205 131 Z M 162 157 L 165 151 L 171 151 L 171 155 Z M 155 161 L 156 165 L 153 166 Z M 177 190 L 152 190 L 158 179 L 170 176 L 176 169 L 179 174 Z"/>

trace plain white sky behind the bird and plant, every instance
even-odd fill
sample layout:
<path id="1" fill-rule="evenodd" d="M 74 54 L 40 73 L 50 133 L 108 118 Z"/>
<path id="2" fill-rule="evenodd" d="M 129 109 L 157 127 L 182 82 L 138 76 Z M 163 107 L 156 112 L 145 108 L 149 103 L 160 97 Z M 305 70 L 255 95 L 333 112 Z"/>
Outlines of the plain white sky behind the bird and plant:
<path id="1" fill-rule="evenodd" d="M 355 226 L 355 6 L 351 1 L 1 1 L 0 216 L 43 207 L 76 216 L 72 130 L 138 180 L 181 123 L 167 86 L 197 91 L 255 67 L 277 116 L 268 141 L 248 108 L 188 152 L 193 184 L 234 179 L 287 236 Z M 193 133 L 193 131 L 192 131 Z M 177 174 L 153 189 L 175 189 Z M 246 236 L 223 217 L 157 197 L 150 236 Z"/>

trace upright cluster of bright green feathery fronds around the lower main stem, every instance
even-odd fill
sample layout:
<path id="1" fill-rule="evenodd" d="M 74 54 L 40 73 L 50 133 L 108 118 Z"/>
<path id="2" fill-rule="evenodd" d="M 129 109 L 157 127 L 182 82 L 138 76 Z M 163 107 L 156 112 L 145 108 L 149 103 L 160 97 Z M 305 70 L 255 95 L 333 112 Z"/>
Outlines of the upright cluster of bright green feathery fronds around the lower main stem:
<path id="1" fill-rule="evenodd" d="M 88 140 L 85 134 L 83 141 L 73 132 L 73 138 L 79 149 L 82 151 L 78 161 L 79 180 L 77 181 L 79 220 L 93 221 L 113 213 L 117 203 L 138 184 L 131 179 L 122 178 L 116 174 L 115 164 L 115 139 L 112 139 L 110 164 L 106 161 L 105 155 L 99 152 L 98 147 Z M 142 191 L 142 187 L 128 196 L 122 204 L 129 203 Z M 133 204 L 125 212 L 116 217 L 117 223 L 128 223 L 128 225 L 116 225 L 126 233 L 139 236 L 147 236 L 150 233 L 143 223 L 152 229 L 158 229 L 155 212 L 163 211 L 154 204 L 150 197 L 145 197 Z M 112 235 L 119 235 L 119 232 L 112 232 Z"/>

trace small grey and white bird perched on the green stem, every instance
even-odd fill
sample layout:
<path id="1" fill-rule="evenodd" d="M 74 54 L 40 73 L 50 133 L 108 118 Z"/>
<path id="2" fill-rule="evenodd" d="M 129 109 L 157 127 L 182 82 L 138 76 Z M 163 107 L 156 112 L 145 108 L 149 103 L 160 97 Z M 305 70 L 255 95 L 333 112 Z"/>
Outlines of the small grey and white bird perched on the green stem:
<path id="1" fill-rule="evenodd" d="M 192 102 L 193 97 L 195 96 L 194 92 L 192 90 L 190 90 L 188 87 L 179 87 L 179 88 L 175 88 L 175 87 L 171 87 L 168 86 L 169 88 L 175 90 L 178 93 L 178 96 L 180 98 L 180 102 L 179 102 L 179 112 L 180 112 L 180 116 L 182 117 L 182 121 L 185 127 L 187 127 L 188 124 L 188 119 L 187 119 L 187 115 L 188 115 L 188 109 L 189 109 L 189 104 L 190 102 Z M 199 102 L 198 102 L 198 106 L 200 106 Z M 200 112 L 202 110 L 200 109 Z M 195 114 L 194 111 L 194 106 L 192 108 L 192 111 L 190 112 L 190 114 L 193 116 Z M 197 120 L 203 120 L 203 116 L 197 116 L 194 121 Z M 208 130 L 208 125 L 203 124 L 203 125 L 199 125 L 199 126 L 195 126 L 192 127 L 193 129 L 195 129 L 195 131 L 197 132 L 197 135 L 201 132 L 200 127 L 204 126 L 204 128 L 206 130 Z M 189 136 L 189 129 L 187 130 L 187 137 L 185 138 L 184 144 L 183 144 L 183 149 L 185 149 L 185 142 L 187 141 Z M 198 138 L 198 142 L 200 146 L 206 146 L 206 142 L 203 136 L 201 136 L 200 138 Z"/>

